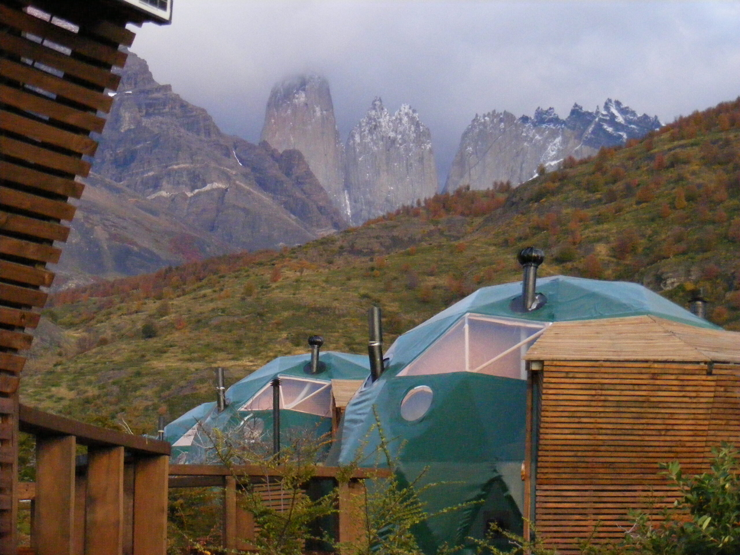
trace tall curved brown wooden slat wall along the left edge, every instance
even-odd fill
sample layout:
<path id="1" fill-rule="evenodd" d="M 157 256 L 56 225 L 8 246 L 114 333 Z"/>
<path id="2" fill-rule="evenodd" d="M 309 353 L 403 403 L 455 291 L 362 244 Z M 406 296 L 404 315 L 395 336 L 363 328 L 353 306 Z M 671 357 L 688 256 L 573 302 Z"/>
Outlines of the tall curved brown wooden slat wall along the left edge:
<path id="1" fill-rule="evenodd" d="M 134 34 L 103 2 L 0 0 L 0 555 L 16 553 L 18 351 L 38 324 Z M 101 16 L 101 10 L 107 10 Z M 60 19 L 61 18 L 61 19 Z"/>

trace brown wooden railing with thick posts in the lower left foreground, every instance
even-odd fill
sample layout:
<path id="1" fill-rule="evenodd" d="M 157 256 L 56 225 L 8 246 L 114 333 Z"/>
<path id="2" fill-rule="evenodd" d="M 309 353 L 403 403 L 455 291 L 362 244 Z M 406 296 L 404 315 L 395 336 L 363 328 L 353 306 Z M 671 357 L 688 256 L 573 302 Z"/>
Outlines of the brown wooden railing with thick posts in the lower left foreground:
<path id="1" fill-rule="evenodd" d="M 166 553 L 169 443 L 23 405 L 19 428 L 36 436 L 36 484 L 19 487 L 33 499 L 27 553 Z"/>

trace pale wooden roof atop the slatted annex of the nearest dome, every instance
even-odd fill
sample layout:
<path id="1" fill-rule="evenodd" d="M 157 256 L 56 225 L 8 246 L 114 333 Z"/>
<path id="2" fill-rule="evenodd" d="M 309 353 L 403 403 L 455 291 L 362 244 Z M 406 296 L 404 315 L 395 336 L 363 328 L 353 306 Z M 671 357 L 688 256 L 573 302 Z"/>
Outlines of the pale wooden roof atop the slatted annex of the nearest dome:
<path id="1" fill-rule="evenodd" d="M 652 360 L 740 363 L 740 333 L 656 316 L 556 322 L 525 360 Z"/>

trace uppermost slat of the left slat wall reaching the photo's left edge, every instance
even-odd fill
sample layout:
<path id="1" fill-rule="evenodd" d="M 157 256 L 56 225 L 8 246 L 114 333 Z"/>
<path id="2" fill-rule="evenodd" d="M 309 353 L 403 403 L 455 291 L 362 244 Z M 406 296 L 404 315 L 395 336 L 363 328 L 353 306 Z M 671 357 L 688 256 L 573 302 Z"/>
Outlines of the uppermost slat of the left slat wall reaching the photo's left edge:
<path id="1" fill-rule="evenodd" d="M 93 41 L 91 38 L 79 36 L 78 33 L 7 6 L 0 6 L 0 21 L 25 33 L 47 38 L 76 53 L 105 64 L 123 67 L 126 62 L 127 54 L 121 50 Z"/>

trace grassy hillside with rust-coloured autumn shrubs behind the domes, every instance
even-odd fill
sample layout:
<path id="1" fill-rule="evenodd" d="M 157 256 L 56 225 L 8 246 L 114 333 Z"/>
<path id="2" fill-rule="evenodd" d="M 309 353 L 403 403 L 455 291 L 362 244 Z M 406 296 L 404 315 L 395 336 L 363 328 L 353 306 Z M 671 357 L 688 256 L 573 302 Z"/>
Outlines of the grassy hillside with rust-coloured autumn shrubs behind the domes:
<path id="1" fill-rule="evenodd" d="M 58 339 L 24 376 L 25 403 L 153 431 L 273 357 L 365 352 L 366 310 L 383 306 L 387 345 L 477 287 L 519 279 L 517 249 L 545 249 L 541 275 L 632 280 L 740 329 L 740 100 L 682 118 L 628 147 L 513 191 L 437 195 L 283 252 L 235 255 L 53 300 Z M 494 184 L 492 184 L 494 185 Z M 61 332 L 60 330 L 61 329 Z"/>

